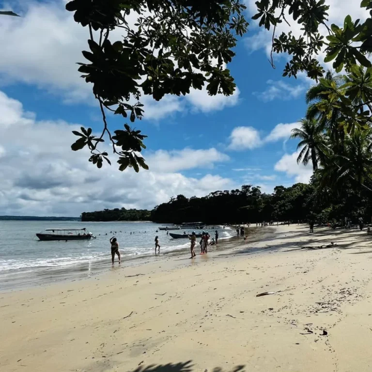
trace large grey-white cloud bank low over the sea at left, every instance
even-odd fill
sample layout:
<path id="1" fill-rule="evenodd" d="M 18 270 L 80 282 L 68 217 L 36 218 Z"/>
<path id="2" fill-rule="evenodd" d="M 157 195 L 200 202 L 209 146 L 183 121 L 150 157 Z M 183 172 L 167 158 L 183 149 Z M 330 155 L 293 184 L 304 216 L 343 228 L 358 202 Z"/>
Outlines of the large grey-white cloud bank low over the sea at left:
<path id="1" fill-rule="evenodd" d="M 177 194 L 203 196 L 236 186 L 218 175 L 178 172 L 228 160 L 213 148 L 145 153 L 154 169 L 140 173 L 119 172 L 115 164 L 98 170 L 88 162 L 87 150 L 70 150 L 71 131 L 78 127 L 37 121 L 19 101 L 0 92 L 0 214 L 79 216 L 103 208 L 153 208 Z"/>

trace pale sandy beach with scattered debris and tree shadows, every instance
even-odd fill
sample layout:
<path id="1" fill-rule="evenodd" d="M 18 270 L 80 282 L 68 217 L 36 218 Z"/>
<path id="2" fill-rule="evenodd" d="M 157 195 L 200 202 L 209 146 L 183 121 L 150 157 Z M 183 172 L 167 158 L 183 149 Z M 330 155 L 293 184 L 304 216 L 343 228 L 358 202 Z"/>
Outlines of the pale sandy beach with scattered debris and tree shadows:
<path id="1" fill-rule="evenodd" d="M 1 372 L 370 371 L 372 237 L 262 230 L 195 260 L 0 294 Z"/>

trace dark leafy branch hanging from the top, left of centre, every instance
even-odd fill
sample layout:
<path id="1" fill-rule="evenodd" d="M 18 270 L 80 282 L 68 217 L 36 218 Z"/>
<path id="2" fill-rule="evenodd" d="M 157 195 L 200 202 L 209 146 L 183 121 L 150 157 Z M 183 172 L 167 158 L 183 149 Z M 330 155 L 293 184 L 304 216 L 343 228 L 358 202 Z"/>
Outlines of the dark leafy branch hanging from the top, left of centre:
<path id="1" fill-rule="evenodd" d="M 66 9 L 89 29 L 79 72 L 93 84 L 104 122 L 99 137 L 91 128 L 74 132 L 79 138 L 72 150 L 88 146 L 98 168 L 104 160 L 110 164 L 108 153 L 97 148 L 107 134 L 121 171 L 148 169 L 139 155 L 146 136 L 128 124 L 112 135 L 106 111 L 133 123 L 143 115 L 142 94 L 159 101 L 203 86 L 210 95 L 235 90 L 226 64 L 235 55 L 236 38 L 247 30 L 242 0 L 72 0 Z M 114 29 L 122 31 L 122 40 L 111 40 Z"/>

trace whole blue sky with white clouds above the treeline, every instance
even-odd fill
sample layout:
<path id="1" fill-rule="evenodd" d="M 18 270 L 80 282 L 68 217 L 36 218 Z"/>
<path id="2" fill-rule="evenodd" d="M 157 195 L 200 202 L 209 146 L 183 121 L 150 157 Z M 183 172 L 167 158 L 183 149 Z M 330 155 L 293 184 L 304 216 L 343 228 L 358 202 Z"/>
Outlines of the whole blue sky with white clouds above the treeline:
<path id="1" fill-rule="evenodd" d="M 331 18 L 339 22 L 345 2 L 328 2 Z M 143 98 L 145 118 L 135 126 L 149 136 L 143 153 L 149 172 L 122 173 L 115 162 L 98 171 L 87 153 L 72 153 L 71 130 L 84 125 L 98 132 L 101 120 L 75 64 L 83 61 L 87 30 L 64 3 L 0 1 L 0 9 L 22 14 L 0 19 L 0 172 L 6 180 L 0 214 L 78 216 L 117 206 L 152 208 L 179 193 L 202 196 L 248 183 L 272 192 L 276 185 L 309 180 L 311 170 L 297 166 L 296 141 L 288 137 L 304 116 L 311 81 L 282 78 L 285 57 L 272 69 L 270 35 L 254 24 L 228 66 L 238 87 L 232 97 L 192 92 L 160 103 Z M 254 1 L 247 5 L 250 17 Z M 123 124 L 109 117 L 111 128 Z"/>

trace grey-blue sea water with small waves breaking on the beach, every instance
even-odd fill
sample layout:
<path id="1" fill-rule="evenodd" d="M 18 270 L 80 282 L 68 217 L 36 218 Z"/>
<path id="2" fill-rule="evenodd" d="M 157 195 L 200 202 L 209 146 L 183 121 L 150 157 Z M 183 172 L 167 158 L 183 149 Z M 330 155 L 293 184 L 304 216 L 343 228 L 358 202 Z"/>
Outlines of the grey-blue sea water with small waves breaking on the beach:
<path id="1" fill-rule="evenodd" d="M 61 273 L 81 274 L 103 263 L 107 266 L 111 260 L 109 238 L 114 235 L 124 264 L 125 260 L 154 256 L 156 235 L 161 253 L 189 247 L 188 239 L 172 239 L 165 231 L 156 233 L 160 226 L 152 222 L 0 221 L 0 289 L 11 288 L 12 283 L 54 281 Z M 96 239 L 48 242 L 35 236 L 51 228 L 86 228 Z M 218 226 L 214 230 L 219 231 L 220 239 L 232 233 Z M 184 231 L 191 233 L 174 233 Z"/>

